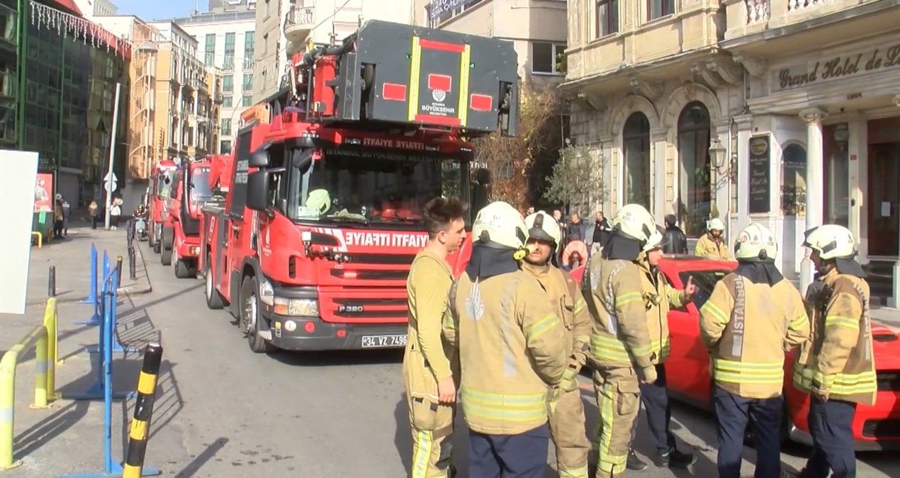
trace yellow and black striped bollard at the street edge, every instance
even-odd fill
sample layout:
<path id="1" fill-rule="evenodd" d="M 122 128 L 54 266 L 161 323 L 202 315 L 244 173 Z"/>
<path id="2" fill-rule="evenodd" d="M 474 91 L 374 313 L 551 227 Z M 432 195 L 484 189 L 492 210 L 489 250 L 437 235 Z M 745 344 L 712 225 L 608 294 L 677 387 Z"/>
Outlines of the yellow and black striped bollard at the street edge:
<path id="1" fill-rule="evenodd" d="M 122 478 L 138 478 L 144 473 L 144 455 L 147 453 L 150 417 L 153 415 L 162 358 L 163 347 L 159 344 L 149 344 L 144 350 L 144 365 L 138 379 L 138 399 L 134 403 L 134 419 L 128 434 L 128 452 L 125 454 Z"/>

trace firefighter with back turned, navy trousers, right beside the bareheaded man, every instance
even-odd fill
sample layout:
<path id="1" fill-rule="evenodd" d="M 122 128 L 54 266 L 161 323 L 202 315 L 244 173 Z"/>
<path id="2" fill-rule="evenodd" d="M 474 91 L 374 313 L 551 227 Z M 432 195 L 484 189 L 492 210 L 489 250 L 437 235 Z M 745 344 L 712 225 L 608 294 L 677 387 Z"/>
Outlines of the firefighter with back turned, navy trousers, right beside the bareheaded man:
<path id="1" fill-rule="evenodd" d="M 572 353 L 550 297 L 519 269 L 525 220 L 508 203 L 475 218 L 472 259 L 451 288 L 444 323 L 458 347 L 459 401 L 469 426 L 469 476 L 544 478 L 547 416 Z"/>

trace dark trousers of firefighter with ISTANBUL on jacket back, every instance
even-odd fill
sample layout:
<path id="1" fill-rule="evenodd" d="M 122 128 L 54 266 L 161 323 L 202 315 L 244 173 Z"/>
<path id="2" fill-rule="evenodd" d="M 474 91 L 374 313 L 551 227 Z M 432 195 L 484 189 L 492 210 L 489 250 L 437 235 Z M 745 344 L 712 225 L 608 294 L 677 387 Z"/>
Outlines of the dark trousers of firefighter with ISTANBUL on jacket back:
<path id="1" fill-rule="evenodd" d="M 714 387 L 720 478 L 741 478 L 743 438 L 748 422 L 756 432 L 756 471 L 753 476 L 781 476 L 781 400 L 781 397 L 748 399 Z"/>

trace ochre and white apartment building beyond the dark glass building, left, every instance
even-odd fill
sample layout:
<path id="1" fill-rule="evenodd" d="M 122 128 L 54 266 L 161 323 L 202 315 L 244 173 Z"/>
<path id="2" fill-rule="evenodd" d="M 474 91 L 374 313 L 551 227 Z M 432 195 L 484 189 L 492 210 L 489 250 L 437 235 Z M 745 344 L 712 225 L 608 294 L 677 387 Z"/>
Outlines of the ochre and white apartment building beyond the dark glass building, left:
<path id="1" fill-rule="evenodd" d="M 217 152 L 221 73 L 203 64 L 198 42 L 175 22 L 150 22 L 163 41 L 157 52 L 157 159 L 202 158 Z"/>

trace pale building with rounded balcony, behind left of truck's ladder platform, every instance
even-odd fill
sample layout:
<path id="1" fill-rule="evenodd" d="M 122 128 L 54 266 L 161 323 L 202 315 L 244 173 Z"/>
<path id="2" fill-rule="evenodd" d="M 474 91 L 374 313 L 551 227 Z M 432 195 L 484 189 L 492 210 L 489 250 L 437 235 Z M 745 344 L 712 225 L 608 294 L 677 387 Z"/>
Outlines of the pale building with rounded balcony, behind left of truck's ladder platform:
<path id="1" fill-rule="evenodd" d="M 257 2 L 259 64 L 254 102 L 283 86 L 288 59 L 310 43 L 339 44 L 365 20 L 413 23 L 413 0 L 260 0 Z"/>

